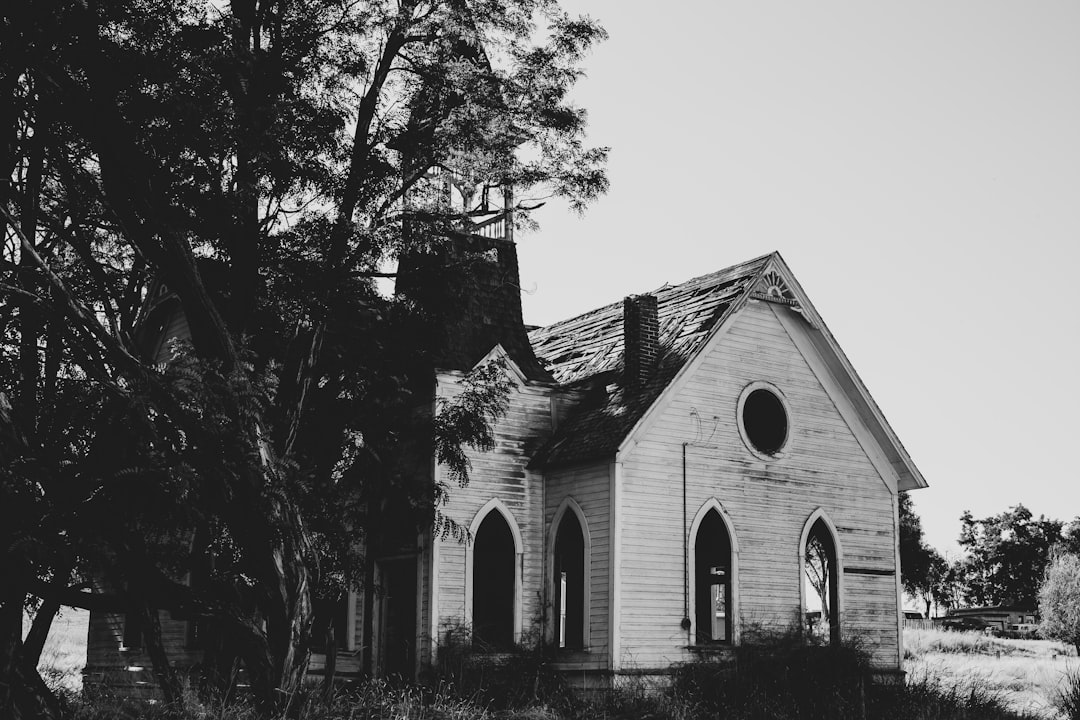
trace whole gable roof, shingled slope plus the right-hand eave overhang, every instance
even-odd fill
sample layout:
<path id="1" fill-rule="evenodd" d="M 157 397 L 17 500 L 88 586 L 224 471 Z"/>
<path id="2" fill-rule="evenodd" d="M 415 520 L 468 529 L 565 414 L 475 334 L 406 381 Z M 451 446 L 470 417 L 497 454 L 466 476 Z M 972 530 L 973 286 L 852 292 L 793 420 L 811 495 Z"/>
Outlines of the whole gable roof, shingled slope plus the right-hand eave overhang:
<path id="1" fill-rule="evenodd" d="M 660 350 L 650 380 L 639 389 L 632 390 L 623 383 L 621 302 L 529 334 L 536 356 L 555 380 L 586 391 L 584 399 L 541 448 L 532 464 L 566 465 L 615 457 L 725 321 L 747 300 L 760 299 L 789 307 L 813 328 L 816 351 L 826 357 L 828 372 L 839 378 L 840 386 L 858 406 L 870 433 L 886 449 L 901 489 L 927 486 L 779 253 L 679 285 L 665 285 L 651 295 L 657 297 Z"/>

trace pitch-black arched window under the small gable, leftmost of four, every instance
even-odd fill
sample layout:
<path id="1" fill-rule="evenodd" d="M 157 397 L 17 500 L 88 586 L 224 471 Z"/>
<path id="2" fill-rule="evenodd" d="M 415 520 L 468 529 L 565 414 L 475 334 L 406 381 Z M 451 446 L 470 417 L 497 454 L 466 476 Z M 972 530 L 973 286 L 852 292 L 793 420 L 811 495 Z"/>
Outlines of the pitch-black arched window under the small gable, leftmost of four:
<path id="1" fill-rule="evenodd" d="M 514 535 L 492 510 L 473 539 L 473 640 L 491 649 L 514 643 Z"/>

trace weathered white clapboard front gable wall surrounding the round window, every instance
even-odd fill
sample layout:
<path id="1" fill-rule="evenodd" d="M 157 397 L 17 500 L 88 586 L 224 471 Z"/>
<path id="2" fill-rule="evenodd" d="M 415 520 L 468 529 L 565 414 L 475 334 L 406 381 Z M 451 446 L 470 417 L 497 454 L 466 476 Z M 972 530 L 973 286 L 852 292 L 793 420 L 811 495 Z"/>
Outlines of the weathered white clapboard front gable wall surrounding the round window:
<path id="1" fill-rule="evenodd" d="M 741 310 L 620 458 L 622 669 L 691 657 L 680 628 L 684 443 L 687 525 L 714 498 L 733 525 L 740 627 L 783 630 L 798 622 L 799 541 L 820 507 L 837 528 L 845 569 L 862 571 L 841 580 L 842 633 L 858 637 L 877 665 L 899 665 L 895 498 L 774 312 L 789 311 L 765 302 Z M 788 445 L 769 462 L 746 449 L 737 424 L 740 393 L 755 381 L 775 385 L 791 411 Z"/>

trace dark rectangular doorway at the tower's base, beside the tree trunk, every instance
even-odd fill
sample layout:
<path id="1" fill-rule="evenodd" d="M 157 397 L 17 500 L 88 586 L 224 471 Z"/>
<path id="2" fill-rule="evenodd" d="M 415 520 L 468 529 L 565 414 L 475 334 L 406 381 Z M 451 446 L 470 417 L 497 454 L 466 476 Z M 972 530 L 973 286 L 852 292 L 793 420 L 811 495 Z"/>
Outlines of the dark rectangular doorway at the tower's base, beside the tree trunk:
<path id="1" fill-rule="evenodd" d="M 379 657 L 386 676 L 416 676 L 416 558 L 379 562 Z"/>

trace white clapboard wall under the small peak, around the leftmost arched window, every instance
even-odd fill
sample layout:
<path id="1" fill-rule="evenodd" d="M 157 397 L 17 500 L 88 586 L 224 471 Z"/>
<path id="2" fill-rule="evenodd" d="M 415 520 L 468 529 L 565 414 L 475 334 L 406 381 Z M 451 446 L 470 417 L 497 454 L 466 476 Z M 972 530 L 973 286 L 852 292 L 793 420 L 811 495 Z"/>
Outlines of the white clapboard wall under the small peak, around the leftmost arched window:
<path id="1" fill-rule="evenodd" d="M 451 397 L 460 392 L 459 375 L 442 373 L 437 392 Z M 451 487 L 450 499 L 443 512 L 464 528 L 492 499 L 510 511 L 522 534 L 521 623 L 523 638 L 539 637 L 541 598 L 543 597 L 543 481 L 539 473 L 527 468 L 529 452 L 551 436 L 551 389 L 515 385 L 509 397 L 505 415 L 495 423 L 496 447 L 489 452 L 469 451 L 472 462 L 470 483 L 465 488 Z M 444 470 L 436 467 L 444 478 Z M 433 600 L 437 616 L 431 623 L 436 642 L 444 642 L 447 633 L 468 627 L 472 619 L 465 609 L 465 562 L 470 548 L 454 539 L 435 540 Z"/>

